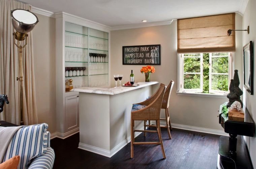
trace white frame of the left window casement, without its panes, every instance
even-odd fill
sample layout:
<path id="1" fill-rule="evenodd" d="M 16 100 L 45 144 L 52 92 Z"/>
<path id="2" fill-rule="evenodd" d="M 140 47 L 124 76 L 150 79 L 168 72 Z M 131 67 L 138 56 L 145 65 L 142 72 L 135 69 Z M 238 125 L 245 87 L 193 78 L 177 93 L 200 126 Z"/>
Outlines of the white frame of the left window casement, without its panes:
<path id="1" fill-rule="evenodd" d="M 193 93 L 201 93 L 203 92 L 203 53 L 200 53 L 200 56 L 184 56 L 184 54 L 180 54 L 181 56 L 181 73 L 180 73 L 180 83 L 181 83 L 181 92 L 193 92 Z M 184 72 L 184 58 L 200 58 L 200 72 Z M 184 89 L 184 74 L 191 75 L 200 75 L 200 88 L 198 89 Z"/>

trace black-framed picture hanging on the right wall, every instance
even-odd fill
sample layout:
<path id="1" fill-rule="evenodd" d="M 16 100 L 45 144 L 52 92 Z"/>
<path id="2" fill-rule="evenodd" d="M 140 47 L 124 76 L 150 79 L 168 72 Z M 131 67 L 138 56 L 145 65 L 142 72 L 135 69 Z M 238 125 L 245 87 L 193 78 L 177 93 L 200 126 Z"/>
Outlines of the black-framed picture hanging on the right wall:
<path id="1" fill-rule="evenodd" d="M 243 47 L 244 88 L 253 95 L 253 43 L 250 41 Z"/>

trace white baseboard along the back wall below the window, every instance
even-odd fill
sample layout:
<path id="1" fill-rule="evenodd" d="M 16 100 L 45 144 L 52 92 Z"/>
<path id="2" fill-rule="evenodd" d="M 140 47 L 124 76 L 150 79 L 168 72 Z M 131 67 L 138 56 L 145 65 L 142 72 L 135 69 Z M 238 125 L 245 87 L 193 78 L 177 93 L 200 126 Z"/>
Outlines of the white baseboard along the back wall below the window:
<path id="1" fill-rule="evenodd" d="M 154 122 L 152 122 L 152 123 L 155 124 Z M 160 125 L 166 126 L 166 123 L 161 121 Z M 222 130 L 214 130 L 214 129 L 208 129 L 208 128 L 187 126 L 187 125 L 182 125 L 182 124 L 173 124 L 173 123 L 171 123 L 171 127 L 183 129 L 183 130 L 197 131 L 197 132 L 201 132 L 201 133 L 209 133 L 209 134 L 228 136 L 228 133 L 225 133 Z"/>

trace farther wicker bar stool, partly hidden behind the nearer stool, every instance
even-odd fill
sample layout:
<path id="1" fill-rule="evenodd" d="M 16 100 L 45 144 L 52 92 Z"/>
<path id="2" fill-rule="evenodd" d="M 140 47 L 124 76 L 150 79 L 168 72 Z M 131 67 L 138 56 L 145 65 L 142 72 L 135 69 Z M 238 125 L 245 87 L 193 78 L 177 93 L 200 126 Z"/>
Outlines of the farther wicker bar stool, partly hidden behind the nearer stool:
<path id="1" fill-rule="evenodd" d="M 160 118 L 160 120 L 165 120 L 165 122 L 166 122 L 166 126 L 160 126 L 160 127 L 167 128 L 167 132 L 168 132 L 170 139 L 171 139 L 170 128 L 172 130 L 172 127 L 171 127 L 171 121 L 170 121 L 170 115 L 169 115 L 169 101 L 170 101 L 171 89 L 172 89 L 173 85 L 174 85 L 174 81 L 171 80 L 165 90 L 162 107 L 161 107 L 161 109 L 165 109 L 165 119 Z M 146 126 L 147 127 L 156 127 L 156 125 L 150 125 L 150 120 L 148 122 L 149 123 L 147 124 L 147 120 L 144 121 L 144 130 L 146 130 Z M 144 136 L 146 137 L 146 132 L 144 132 Z"/>

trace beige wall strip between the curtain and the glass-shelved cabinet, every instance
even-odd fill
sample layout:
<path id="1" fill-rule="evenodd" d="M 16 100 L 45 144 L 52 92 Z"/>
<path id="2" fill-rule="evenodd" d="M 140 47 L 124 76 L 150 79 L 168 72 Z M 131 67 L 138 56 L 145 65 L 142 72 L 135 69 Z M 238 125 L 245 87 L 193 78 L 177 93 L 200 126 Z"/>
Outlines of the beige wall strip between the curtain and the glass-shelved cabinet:
<path id="1" fill-rule="evenodd" d="M 34 68 L 38 123 L 47 123 L 56 132 L 55 18 L 36 14 L 33 29 Z"/>

